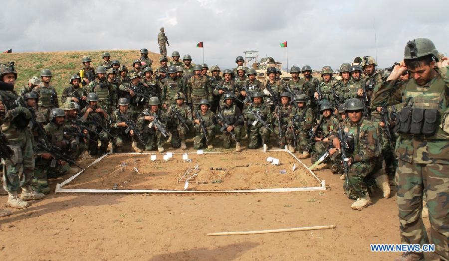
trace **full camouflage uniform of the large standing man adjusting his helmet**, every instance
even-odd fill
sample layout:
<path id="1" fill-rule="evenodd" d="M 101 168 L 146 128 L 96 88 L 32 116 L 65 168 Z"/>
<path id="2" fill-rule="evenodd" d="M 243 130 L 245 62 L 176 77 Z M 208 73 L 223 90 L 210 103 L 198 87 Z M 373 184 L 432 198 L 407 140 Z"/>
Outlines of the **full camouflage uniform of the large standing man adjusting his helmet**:
<path id="1" fill-rule="evenodd" d="M 432 242 L 440 257 L 446 259 L 449 259 L 449 132 L 447 123 L 445 125 L 441 117 L 449 111 L 448 88 L 449 66 L 436 70 L 435 77 L 423 86 L 418 86 L 415 79 L 381 81 L 375 87 L 372 101 L 375 106 L 382 107 L 405 103 L 408 97 L 412 97 L 413 111 L 438 111 L 435 116 L 429 113 L 425 118 L 424 113 L 421 117 L 419 114 L 417 117 L 413 115 L 416 122 L 425 119 L 426 123 L 436 128 L 434 134 L 398 133 L 396 184 L 402 242 L 429 244 L 421 219 L 424 193 L 427 196 Z M 405 109 L 398 113 L 396 128 L 398 124 L 407 125 L 408 115 Z"/>

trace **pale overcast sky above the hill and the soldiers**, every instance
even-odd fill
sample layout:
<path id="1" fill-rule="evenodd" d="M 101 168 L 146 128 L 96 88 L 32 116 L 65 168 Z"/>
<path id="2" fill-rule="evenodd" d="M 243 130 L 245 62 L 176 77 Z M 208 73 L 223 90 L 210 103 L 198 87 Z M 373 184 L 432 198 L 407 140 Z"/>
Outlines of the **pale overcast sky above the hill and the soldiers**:
<path id="1" fill-rule="evenodd" d="M 448 52 L 449 0 L 17 0 L 3 1 L 0 50 L 13 52 L 148 48 L 160 27 L 194 63 L 235 67 L 243 51 L 287 66 L 339 68 L 371 55 L 380 67 L 403 57 L 408 40 L 430 38 Z M 377 52 L 375 30 L 377 35 Z M 112 57 L 113 59 L 113 57 Z"/>

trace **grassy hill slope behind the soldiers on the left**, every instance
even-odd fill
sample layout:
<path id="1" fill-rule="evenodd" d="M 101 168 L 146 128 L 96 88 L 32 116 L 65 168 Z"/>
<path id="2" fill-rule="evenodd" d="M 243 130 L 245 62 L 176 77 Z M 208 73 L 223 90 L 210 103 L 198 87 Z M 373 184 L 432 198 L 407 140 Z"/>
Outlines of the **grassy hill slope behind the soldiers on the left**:
<path id="1" fill-rule="evenodd" d="M 106 50 L 111 54 L 111 60 L 119 60 L 129 69 L 131 63 L 140 58 L 140 50 Z M 51 85 L 58 93 L 68 86 L 70 77 L 83 67 L 81 59 L 84 55 L 92 59 L 92 67 L 96 67 L 103 60 L 104 51 L 69 51 L 69 52 L 28 52 L 28 53 L 0 53 L 0 63 L 15 62 L 18 78 L 15 88 L 20 89 L 33 76 L 39 76 L 41 69 L 49 68 L 53 74 Z M 159 53 L 148 52 L 153 59 L 153 68 L 159 67 Z"/>

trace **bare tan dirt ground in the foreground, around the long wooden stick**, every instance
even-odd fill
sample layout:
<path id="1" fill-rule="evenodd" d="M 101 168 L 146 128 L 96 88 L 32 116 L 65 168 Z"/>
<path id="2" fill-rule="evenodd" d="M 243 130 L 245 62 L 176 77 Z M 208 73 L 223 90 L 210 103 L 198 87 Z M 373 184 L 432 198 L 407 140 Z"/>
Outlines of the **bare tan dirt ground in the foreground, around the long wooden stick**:
<path id="1" fill-rule="evenodd" d="M 86 166 L 89 162 L 84 162 Z M 308 159 L 304 160 L 310 165 Z M 0 218 L 2 260 L 392 260 L 370 244 L 398 244 L 396 195 L 350 208 L 342 180 L 325 191 L 239 194 L 53 194 Z M 70 174 L 71 175 L 71 174 Z M 52 180 L 52 187 L 70 175 Z M 394 191 L 394 190 L 393 190 Z M 0 197 L 3 204 L 6 196 Z M 426 220 L 427 222 L 427 220 Z M 207 233 L 336 225 L 335 229 Z"/>

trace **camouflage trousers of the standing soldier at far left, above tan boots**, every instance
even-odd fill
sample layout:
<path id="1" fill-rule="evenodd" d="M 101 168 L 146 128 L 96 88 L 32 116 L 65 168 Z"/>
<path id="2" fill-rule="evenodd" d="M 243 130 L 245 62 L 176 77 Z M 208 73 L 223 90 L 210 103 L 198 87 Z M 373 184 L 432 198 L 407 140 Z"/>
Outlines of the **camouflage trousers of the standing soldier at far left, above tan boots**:
<path id="1" fill-rule="evenodd" d="M 20 138 L 10 139 L 9 146 L 14 151 L 12 159 L 3 164 L 3 189 L 8 193 L 31 184 L 34 175 L 34 153 L 30 130 L 17 130 Z"/>

